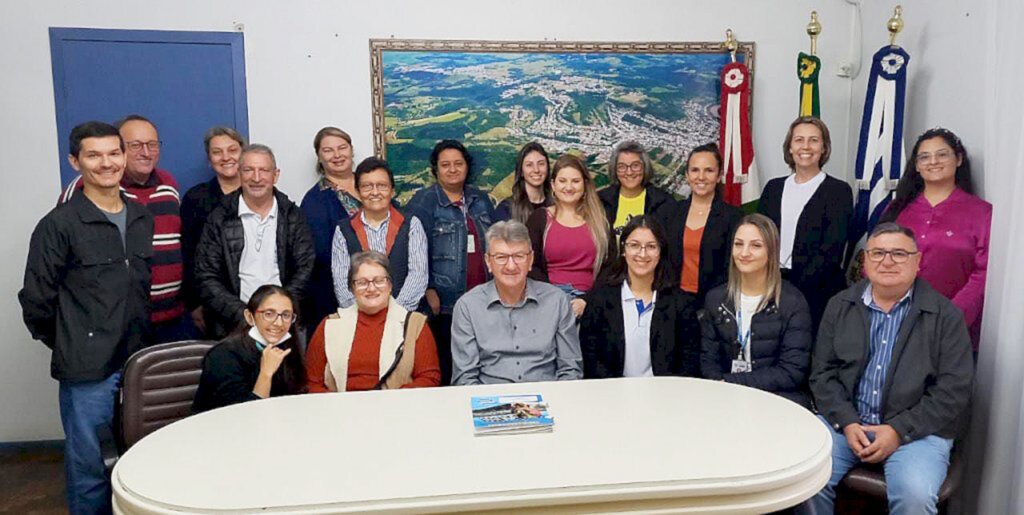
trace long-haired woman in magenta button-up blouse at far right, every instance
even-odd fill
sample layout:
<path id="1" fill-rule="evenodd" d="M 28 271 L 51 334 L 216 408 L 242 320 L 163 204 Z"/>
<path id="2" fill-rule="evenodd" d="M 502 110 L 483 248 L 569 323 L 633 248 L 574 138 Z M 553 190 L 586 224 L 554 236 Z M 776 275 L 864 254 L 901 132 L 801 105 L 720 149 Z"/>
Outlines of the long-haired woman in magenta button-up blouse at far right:
<path id="1" fill-rule="evenodd" d="M 920 275 L 964 311 L 977 351 L 992 205 L 973 190 L 971 161 L 959 138 L 946 129 L 931 129 L 914 143 L 882 221 L 913 230 Z"/>

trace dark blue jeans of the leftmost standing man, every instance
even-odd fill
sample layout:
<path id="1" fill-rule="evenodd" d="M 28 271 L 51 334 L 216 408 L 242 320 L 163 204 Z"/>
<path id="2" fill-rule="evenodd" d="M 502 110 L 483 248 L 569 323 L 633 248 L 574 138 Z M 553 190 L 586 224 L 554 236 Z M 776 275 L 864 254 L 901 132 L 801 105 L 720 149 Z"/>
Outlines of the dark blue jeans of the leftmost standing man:
<path id="1" fill-rule="evenodd" d="M 99 439 L 113 434 L 114 398 L 120 385 L 120 372 L 101 381 L 60 382 L 68 511 L 73 515 L 111 513 L 111 480 Z"/>

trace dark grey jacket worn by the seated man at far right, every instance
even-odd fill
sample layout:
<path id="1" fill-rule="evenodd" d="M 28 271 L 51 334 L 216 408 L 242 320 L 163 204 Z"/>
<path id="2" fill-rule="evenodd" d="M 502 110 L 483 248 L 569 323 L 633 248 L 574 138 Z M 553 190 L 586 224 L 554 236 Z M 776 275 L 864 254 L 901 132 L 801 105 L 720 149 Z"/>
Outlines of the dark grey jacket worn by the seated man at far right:
<path id="1" fill-rule="evenodd" d="M 867 366 L 870 314 L 861 300 L 867 280 L 828 301 L 811 362 L 817 411 L 837 431 L 860 420 L 854 403 Z M 967 426 L 974 380 L 964 313 L 918 278 L 883 387 L 882 419 L 903 443 L 932 434 L 954 438 Z"/>

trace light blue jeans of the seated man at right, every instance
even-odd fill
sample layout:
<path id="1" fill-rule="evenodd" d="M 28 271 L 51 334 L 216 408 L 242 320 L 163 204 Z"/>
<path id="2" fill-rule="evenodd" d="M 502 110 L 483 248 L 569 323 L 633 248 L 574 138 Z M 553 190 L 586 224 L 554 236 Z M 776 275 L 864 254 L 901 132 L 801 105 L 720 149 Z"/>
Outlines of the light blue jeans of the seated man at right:
<path id="1" fill-rule="evenodd" d="M 819 415 L 818 419 L 828 426 L 823 417 Z M 836 432 L 831 426 L 828 429 L 833 432 L 833 475 L 821 491 L 794 510 L 798 514 L 833 513 L 836 485 L 850 469 L 860 463 L 860 459 L 850 448 L 846 434 Z M 938 513 L 939 488 L 946 479 L 952 447 L 952 439 L 933 434 L 896 448 L 884 465 L 889 513 Z"/>

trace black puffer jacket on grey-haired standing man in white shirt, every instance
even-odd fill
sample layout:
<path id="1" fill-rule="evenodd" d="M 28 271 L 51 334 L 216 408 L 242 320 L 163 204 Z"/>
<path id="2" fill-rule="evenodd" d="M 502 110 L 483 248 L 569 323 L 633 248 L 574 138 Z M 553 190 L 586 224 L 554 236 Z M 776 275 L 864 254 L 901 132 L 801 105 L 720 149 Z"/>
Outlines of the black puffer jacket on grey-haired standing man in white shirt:
<path id="1" fill-rule="evenodd" d="M 274 189 L 278 198 L 278 268 L 286 290 L 302 299 L 312 274 L 312 235 L 306 217 L 288 196 Z M 245 247 L 245 230 L 239 217 L 241 189 L 224 197 L 203 228 L 196 250 L 196 281 L 208 315 L 210 336 L 223 338 L 244 318 L 246 305 L 239 297 L 239 263 Z"/>

